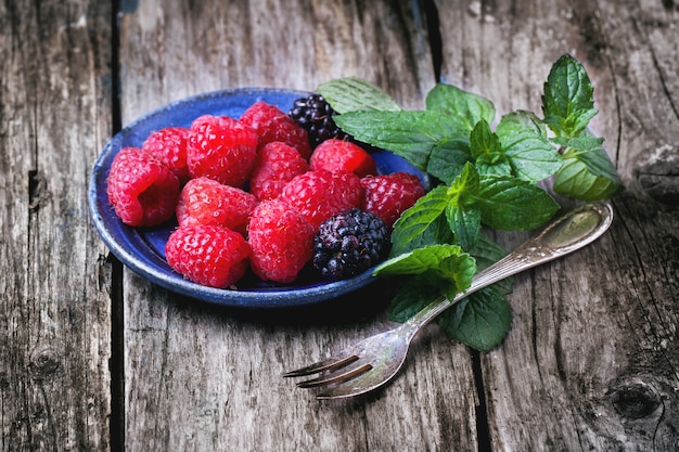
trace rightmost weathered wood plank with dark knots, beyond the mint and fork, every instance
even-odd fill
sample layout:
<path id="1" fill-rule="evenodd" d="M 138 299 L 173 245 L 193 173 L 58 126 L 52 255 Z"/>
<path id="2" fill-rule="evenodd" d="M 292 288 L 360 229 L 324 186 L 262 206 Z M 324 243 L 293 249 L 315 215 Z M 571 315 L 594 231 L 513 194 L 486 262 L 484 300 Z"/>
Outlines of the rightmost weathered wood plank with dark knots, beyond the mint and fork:
<path id="1" fill-rule="evenodd" d="M 573 53 L 594 85 L 592 127 L 627 185 L 606 236 L 517 277 L 512 331 L 482 359 L 492 447 L 674 451 L 679 212 L 650 198 L 637 175 L 661 155 L 676 175 L 676 5 L 463 3 L 437 2 L 441 23 L 459 25 L 441 27 L 444 77 L 501 113 L 539 111 L 549 67 Z M 679 192 L 676 179 L 666 183 Z"/>

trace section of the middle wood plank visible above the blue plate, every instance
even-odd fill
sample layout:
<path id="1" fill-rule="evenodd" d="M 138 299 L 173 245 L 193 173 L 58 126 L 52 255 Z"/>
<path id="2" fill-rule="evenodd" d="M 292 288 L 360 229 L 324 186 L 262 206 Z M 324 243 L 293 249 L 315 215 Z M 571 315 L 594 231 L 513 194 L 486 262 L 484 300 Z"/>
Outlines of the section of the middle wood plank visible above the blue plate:
<path id="1" fill-rule="evenodd" d="M 357 74 L 421 106 L 434 83 L 422 11 L 384 3 L 139 2 L 123 20 L 125 119 L 200 92 L 313 90 Z"/>

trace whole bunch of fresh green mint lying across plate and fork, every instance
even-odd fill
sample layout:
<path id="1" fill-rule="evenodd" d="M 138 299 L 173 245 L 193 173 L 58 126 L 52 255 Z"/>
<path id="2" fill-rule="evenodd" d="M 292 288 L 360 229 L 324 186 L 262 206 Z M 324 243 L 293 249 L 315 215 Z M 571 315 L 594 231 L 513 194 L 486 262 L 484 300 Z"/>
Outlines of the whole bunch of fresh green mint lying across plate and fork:
<path id="1" fill-rule="evenodd" d="M 402 109 L 388 94 L 356 78 L 331 80 L 319 92 L 340 113 L 335 122 L 357 140 L 389 150 L 432 176 L 436 184 L 394 224 L 389 259 L 380 276 L 406 275 L 389 308 L 405 321 L 441 294 L 469 287 L 477 269 L 504 250 L 484 233 L 531 230 L 560 208 L 539 184 L 579 201 L 604 199 L 623 183 L 588 126 L 598 114 L 585 67 L 563 55 L 543 85 L 542 118 L 516 111 L 500 117 L 486 98 L 438 83 L 425 107 Z M 439 323 L 451 337 L 482 351 L 509 331 L 511 282 L 472 294 Z"/>

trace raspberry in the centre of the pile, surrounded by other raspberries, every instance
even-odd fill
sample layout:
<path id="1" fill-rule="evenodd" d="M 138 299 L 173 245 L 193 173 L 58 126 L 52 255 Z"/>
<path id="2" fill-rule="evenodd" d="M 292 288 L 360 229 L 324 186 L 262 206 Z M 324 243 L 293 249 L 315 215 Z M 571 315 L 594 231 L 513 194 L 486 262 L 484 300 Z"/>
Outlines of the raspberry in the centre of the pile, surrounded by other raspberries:
<path id="1" fill-rule="evenodd" d="M 249 192 L 260 201 L 278 197 L 287 182 L 309 170 L 309 164 L 297 150 L 273 141 L 257 153 L 249 176 Z"/>

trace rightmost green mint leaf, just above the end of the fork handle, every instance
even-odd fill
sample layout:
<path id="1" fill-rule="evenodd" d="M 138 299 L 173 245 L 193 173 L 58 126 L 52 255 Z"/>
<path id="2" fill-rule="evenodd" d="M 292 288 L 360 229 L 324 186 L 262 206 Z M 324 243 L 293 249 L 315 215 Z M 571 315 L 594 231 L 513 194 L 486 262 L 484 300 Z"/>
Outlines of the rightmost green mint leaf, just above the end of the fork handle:
<path id="1" fill-rule="evenodd" d="M 554 177 L 553 190 L 580 201 L 607 199 L 623 190 L 623 182 L 603 147 L 572 152 Z"/>

